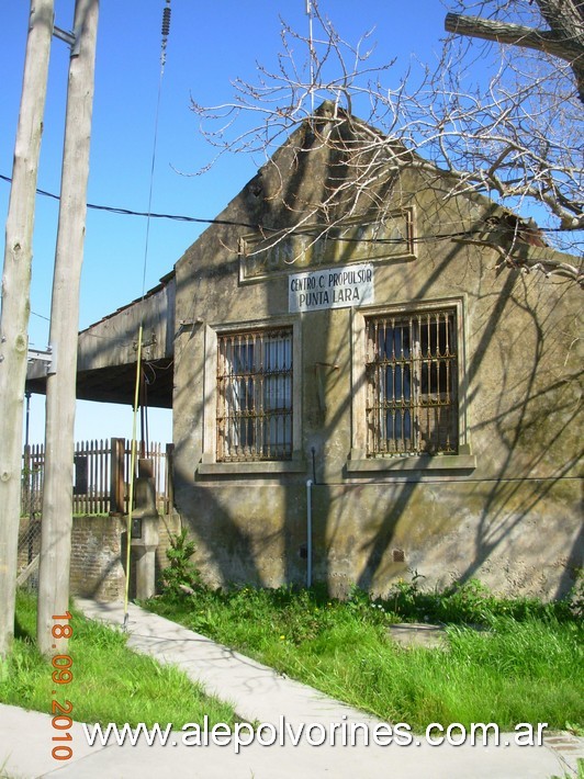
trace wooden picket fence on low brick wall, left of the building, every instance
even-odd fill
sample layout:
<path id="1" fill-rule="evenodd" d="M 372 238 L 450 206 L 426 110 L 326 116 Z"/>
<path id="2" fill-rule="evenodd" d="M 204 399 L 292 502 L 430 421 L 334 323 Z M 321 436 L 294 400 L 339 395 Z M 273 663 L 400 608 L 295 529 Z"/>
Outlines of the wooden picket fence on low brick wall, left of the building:
<path id="1" fill-rule="evenodd" d="M 160 513 L 172 510 L 172 444 L 150 443 L 146 450 L 139 445 L 138 459 L 151 462 L 156 487 L 156 505 Z M 76 444 L 74 455 L 72 509 L 74 513 L 127 513 L 131 442 L 123 438 L 110 441 L 82 441 Z M 22 456 L 22 515 L 38 515 L 43 506 L 43 476 L 45 448 L 35 444 L 24 448 Z"/>

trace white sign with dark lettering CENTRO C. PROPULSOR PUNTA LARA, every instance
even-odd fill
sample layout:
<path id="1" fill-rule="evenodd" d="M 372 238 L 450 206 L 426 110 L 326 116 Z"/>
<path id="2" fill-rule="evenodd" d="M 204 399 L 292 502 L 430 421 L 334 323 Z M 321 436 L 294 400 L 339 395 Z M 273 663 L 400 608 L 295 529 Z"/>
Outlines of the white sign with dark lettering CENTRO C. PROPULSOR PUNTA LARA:
<path id="1" fill-rule="evenodd" d="M 288 309 L 291 314 L 373 302 L 373 267 L 369 262 L 293 273 L 288 278 Z"/>

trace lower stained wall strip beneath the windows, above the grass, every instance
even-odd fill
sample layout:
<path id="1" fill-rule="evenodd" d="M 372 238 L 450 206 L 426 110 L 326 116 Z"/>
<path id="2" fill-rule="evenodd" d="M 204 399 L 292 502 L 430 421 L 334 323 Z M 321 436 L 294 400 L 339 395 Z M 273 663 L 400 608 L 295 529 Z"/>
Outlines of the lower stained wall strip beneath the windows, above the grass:
<path id="1" fill-rule="evenodd" d="M 196 490 L 198 562 L 214 586 L 306 583 L 306 488 Z M 570 589 L 583 544 L 573 482 L 316 485 L 313 578 L 384 595 L 398 578 L 427 586 L 476 577 L 494 591 Z M 207 512 L 201 510 L 202 507 Z"/>

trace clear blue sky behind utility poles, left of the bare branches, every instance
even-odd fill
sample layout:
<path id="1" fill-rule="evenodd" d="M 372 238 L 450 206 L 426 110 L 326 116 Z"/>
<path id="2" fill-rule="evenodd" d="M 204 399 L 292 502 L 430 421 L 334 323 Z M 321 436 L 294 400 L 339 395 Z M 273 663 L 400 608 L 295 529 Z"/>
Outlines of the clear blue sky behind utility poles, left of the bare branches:
<path id="1" fill-rule="evenodd" d="M 148 208 L 156 104 L 160 74 L 165 0 L 101 0 L 88 202 L 144 212 Z M 229 100 L 236 78 L 254 81 L 256 63 L 276 69 L 281 52 L 280 16 L 307 32 L 305 0 L 172 0 L 167 63 L 161 86 L 151 211 L 213 218 L 262 163 L 249 155 L 224 156 L 195 176 L 214 156 L 190 110 L 192 98 L 206 105 Z M 55 0 L 55 23 L 72 27 L 74 0 Z M 12 173 L 12 155 L 22 87 L 29 0 L 2 3 L 0 22 L 0 174 Z M 373 60 L 397 57 L 386 74 L 396 83 L 413 57 L 434 61 L 443 37 L 447 9 L 440 0 L 321 0 L 344 38 L 357 43 L 375 27 Z M 305 54 L 299 54 L 304 61 Z M 58 194 L 67 89 L 68 48 L 54 39 L 45 109 L 38 188 Z M 10 187 L 0 180 L 0 213 L 5 222 Z M 48 340 L 50 287 L 58 203 L 38 196 L 33 242 L 30 341 Z M 201 225 L 153 219 L 149 228 L 146 290 L 204 229 Z M 145 267 L 146 219 L 88 211 L 81 278 L 82 329 L 139 297 Z M 33 396 L 31 441 L 44 438 L 44 398 Z M 150 411 L 150 438 L 171 440 L 170 414 Z M 130 407 L 79 403 L 76 438 L 130 436 Z"/>

